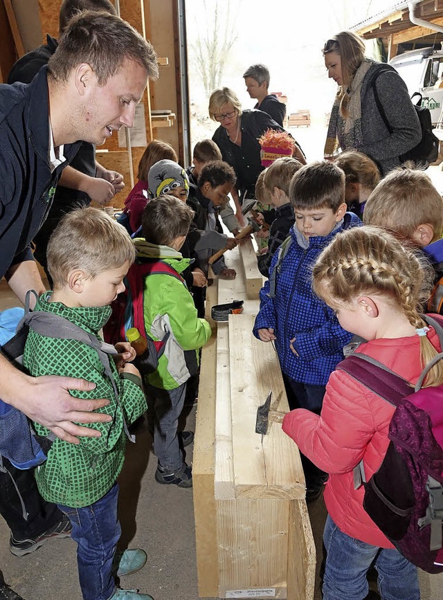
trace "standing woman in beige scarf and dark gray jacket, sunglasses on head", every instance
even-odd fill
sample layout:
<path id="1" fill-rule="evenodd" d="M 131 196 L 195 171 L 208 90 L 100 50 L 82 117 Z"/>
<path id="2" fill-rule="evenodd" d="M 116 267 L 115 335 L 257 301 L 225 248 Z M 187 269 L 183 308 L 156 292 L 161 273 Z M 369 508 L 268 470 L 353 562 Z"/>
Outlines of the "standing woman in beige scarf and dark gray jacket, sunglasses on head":
<path id="1" fill-rule="evenodd" d="M 351 31 L 328 39 L 323 56 L 328 77 L 338 84 L 325 158 L 336 156 L 338 148 L 358 150 L 386 175 L 422 139 L 405 82 L 392 66 L 365 57 L 363 39 Z"/>

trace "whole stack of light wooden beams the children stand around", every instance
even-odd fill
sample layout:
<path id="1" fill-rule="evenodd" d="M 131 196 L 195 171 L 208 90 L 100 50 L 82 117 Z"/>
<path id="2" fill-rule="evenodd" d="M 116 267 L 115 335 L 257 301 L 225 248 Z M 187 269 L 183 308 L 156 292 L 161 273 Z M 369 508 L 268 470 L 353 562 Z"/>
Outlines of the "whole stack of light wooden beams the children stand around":
<path id="1" fill-rule="evenodd" d="M 280 366 L 272 345 L 252 336 L 259 303 L 247 299 L 238 249 L 227 263 L 237 278 L 208 289 L 207 314 L 217 302 L 245 302 L 242 315 L 217 323 L 201 358 L 192 466 L 199 597 L 311 600 L 315 548 L 298 449 L 279 424 L 255 433 L 270 389 L 271 408 L 288 410 Z"/>

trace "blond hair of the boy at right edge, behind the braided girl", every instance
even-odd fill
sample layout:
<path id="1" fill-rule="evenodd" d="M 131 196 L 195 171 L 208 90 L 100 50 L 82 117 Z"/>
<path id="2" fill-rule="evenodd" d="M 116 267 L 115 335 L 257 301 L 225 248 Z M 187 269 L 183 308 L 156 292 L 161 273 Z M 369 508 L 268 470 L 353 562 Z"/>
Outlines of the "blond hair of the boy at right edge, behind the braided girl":
<path id="1" fill-rule="evenodd" d="M 363 223 L 383 227 L 402 239 L 413 239 L 417 227 L 429 224 L 433 242 L 443 227 L 443 201 L 423 171 L 396 169 L 380 181 L 365 204 Z"/>

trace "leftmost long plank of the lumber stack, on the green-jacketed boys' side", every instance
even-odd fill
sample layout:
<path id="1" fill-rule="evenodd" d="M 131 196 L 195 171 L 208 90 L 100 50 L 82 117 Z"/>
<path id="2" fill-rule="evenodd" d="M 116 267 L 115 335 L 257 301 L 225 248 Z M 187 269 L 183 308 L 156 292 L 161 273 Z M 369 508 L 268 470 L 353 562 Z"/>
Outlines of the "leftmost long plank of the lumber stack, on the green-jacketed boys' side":
<path id="1" fill-rule="evenodd" d="M 213 336 L 201 352 L 192 480 L 199 597 L 214 598 L 218 593 L 217 509 L 214 493 L 217 327 L 210 319 L 210 306 L 217 303 L 217 282 L 208 288 L 207 300 L 206 318 L 213 327 Z"/>

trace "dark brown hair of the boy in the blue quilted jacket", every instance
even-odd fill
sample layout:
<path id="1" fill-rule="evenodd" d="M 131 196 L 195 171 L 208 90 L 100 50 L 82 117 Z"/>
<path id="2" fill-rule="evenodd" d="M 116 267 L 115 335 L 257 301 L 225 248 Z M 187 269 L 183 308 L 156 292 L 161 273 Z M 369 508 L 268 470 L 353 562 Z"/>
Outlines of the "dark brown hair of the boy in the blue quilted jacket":
<path id="1" fill-rule="evenodd" d="M 304 165 L 289 185 L 289 200 L 294 210 L 332 208 L 336 212 L 345 201 L 345 174 L 328 161 Z"/>

